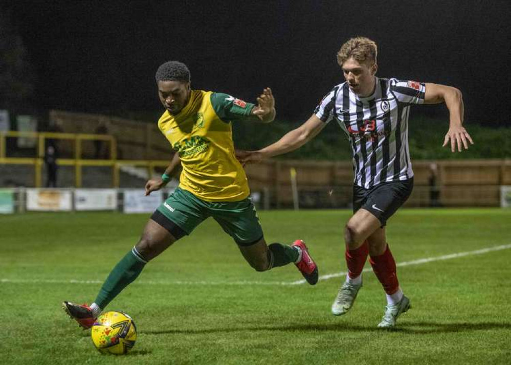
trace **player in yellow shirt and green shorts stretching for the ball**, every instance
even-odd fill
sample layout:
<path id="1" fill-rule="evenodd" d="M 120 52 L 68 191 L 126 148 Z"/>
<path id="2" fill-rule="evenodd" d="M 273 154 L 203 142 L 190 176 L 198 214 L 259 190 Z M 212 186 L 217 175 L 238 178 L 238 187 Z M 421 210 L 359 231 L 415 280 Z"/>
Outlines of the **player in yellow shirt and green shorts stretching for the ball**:
<path id="1" fill-rule="evenodd" d="M 276 112 L 272 90 L 265 88 L 257 105 L 227 94 L 193 90 L 188 67 L 177 61 L 162 64 L 156 81 L 166 109 L 158 127 L 176 153 L 161 178 L 147 181 L 146 195 L 164 187 L 181 164 L 180 184 L 152 214 L 139 242 L 110 272 L 94 303 L 87 306 L 63 302 L 63 309 L 81 327 L 90 328 L 149 260 L 189 235 L 208 217 L 213 217 L 234 239 L 243 257 L 257 271 L 293 262 L 309 284 L 316 284 L 318 268 L 303 241 L 266 245 L 249 197 L 247 176 L 234 153 L 231 122 L 273 121 Z"/>

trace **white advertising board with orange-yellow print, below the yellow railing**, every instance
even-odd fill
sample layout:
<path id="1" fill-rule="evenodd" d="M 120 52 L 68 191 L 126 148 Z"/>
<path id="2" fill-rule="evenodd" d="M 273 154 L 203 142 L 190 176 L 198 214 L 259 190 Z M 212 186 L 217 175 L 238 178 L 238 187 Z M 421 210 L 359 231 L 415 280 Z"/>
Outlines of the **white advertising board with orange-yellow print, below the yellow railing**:
<path id="1" fill-rule="evenodd" d="M 71 198 L 69 190 L 27 189 L 27 210 L 70 212 L 73 208 Z"/>

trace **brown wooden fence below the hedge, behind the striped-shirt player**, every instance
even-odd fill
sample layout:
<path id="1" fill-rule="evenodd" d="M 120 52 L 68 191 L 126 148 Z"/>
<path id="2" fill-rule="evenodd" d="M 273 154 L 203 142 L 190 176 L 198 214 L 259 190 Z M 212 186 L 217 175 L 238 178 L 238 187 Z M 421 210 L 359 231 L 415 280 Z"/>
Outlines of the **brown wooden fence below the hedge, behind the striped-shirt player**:
<path id="1" fill-rule="evenodd" d="M 433 165 L 434 186 L 430 181 Z M 271 207 L 292 207 L 291 168 L 296 170 L 302 207 L 350 205 L 351 162 L 273 160 L 248 165 L 251 189 L 270 195 L 266 199 Z M 500 204 L 500 186 L 511 185 L 511 159 L 415 161 L 413 171 L 414 190 L 405 204 L 408 207 L 496 207 Z"/>

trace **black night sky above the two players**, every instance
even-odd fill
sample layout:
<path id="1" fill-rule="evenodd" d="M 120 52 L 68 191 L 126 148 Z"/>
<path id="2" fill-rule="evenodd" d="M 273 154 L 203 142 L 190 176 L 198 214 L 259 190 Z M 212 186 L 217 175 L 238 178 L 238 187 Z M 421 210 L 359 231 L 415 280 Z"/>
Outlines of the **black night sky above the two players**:
<path id="1" fill-rule="evenodd" d="M 379 45 L 381 77 L 461 89 L 465 120 L 510 126 L 509 1 L 25 1 L 8 8 L 38 77 L 40 106 L 160 110 L 154 72 L 185 62 L 192 87 L 254 101 L 278 118 L 312 113 L 342 82 L 349 37 Z M 6 4 L 6 3 L 4 3 Z M 441 113 L 441 106 L 414 113 Z"/>

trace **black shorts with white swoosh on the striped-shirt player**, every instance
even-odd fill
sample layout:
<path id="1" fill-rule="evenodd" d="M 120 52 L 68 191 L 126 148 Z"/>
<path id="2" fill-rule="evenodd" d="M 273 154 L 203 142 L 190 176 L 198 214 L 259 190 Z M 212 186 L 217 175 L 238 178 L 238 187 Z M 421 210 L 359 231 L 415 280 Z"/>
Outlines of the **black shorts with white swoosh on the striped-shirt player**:
<path id="1" fill-rule="evenodd" d="M 408 180 L 382 182 L 371 189 L 353 185 L 353 213 L 360 208 L 371 212 L 382 227 L 408 199 L 413 189 L 413 177 Z"/>

